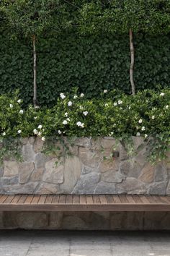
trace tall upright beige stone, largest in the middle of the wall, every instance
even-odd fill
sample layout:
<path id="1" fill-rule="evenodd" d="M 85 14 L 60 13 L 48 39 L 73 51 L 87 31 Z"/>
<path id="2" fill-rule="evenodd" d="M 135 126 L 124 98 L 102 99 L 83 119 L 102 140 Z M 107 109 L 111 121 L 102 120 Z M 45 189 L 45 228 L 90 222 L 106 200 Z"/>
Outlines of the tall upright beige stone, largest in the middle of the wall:
<path id="1" fill-rule="evenodd" d="M 61 189 L 64 192 L 71 193 L 81 176 L 81 168 L 82 164 L 78 157 L 66 158 L 64 163 L 64 182 L 61 184 Z"/>

